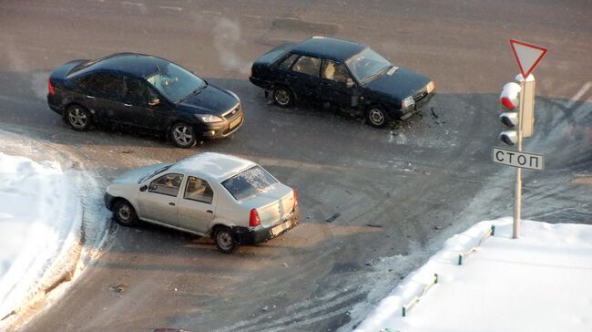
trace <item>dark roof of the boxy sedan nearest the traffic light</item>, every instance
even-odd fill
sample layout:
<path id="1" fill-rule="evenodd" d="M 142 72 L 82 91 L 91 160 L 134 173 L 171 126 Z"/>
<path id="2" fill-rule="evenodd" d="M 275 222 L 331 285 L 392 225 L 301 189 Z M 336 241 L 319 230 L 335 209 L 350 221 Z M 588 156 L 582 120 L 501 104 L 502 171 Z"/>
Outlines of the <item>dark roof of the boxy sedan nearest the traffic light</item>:
<path id="1" fill-rule="evenodd" d="M 343 62 L 367 48 L 363 44 L 329 36 L 311 36 L 292 48 L 292 52 Z"/>

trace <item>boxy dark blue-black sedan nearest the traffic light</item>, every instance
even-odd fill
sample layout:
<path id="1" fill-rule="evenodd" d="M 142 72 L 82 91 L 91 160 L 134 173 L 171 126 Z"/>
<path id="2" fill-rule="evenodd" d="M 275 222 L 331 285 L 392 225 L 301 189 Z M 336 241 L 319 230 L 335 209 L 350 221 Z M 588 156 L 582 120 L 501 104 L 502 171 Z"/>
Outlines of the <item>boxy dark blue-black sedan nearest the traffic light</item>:
<path id="1" fill-rule="evenodd" d="M 281 107 L 319 99 L 363 114 L 377 128 L 413 115 L 435 89 L 429 78 L 393 66 L 370 47 L 324 36 L 271 49 L 253 63 L 250 81 Z"/>

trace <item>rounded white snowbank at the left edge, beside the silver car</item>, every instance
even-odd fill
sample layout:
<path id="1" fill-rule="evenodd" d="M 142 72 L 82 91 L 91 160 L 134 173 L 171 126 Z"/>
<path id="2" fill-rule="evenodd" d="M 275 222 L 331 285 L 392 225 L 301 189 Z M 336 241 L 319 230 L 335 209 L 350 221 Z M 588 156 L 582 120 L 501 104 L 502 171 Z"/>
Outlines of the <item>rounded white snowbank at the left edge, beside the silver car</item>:
<path id="1" fill-rule="evenodd" d="M 71 277 L 81 221 L 77 191 L 59 163 L 0 152 L 0 329 L 7 316 Z"/>

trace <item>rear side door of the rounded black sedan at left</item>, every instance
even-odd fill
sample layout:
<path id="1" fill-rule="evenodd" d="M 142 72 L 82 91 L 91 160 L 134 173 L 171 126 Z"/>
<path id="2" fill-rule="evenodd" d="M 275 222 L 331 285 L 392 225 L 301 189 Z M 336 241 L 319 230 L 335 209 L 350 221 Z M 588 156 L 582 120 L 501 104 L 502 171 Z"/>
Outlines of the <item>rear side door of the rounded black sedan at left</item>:
<path id="1" fill-rule="evenodd" d="M 125 122 L 121 118 L 123 77 L 117 73 L 95 72 L 81 80 L 85 90 L 85 106 L 101 122 Z"/>

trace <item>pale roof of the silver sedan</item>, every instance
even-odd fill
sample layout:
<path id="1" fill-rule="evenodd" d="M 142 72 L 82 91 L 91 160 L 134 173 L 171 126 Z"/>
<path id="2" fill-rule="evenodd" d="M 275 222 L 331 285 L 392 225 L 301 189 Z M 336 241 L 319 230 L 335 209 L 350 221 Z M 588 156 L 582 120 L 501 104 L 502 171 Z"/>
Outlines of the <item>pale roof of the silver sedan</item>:
<path id="1" fill-rule="evenodd" d="M 211 179 L 222 182 L 230 176 L 257 165 L 252 161 L 228 154 L 204 152 L 190 156 L 171 166 L 168 171 L 205 174 Z"/>

